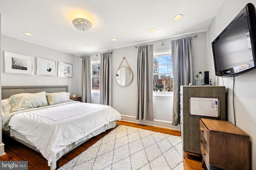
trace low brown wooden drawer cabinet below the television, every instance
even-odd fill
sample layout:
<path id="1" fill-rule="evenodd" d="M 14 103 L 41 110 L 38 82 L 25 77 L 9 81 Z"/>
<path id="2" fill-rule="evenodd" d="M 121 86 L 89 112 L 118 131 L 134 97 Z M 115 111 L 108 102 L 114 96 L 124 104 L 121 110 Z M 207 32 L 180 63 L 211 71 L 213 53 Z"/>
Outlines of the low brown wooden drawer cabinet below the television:
<path id="1" fill-rule="evenodd" d="M 206 164 L 232 170 L 249 170 L 250 137 L 228 121 L 200 120 L 202 167 Z"/>

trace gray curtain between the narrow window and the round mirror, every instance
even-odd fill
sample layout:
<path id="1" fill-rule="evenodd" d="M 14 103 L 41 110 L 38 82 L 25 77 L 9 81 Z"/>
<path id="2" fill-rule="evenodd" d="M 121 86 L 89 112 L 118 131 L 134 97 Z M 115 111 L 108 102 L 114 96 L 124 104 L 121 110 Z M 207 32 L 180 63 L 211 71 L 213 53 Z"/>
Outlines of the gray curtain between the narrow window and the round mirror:
<path id="1" fill-rule="evenodd" d="M 110 52 L 100 54 L 100 104 L 112 106 Z"/>

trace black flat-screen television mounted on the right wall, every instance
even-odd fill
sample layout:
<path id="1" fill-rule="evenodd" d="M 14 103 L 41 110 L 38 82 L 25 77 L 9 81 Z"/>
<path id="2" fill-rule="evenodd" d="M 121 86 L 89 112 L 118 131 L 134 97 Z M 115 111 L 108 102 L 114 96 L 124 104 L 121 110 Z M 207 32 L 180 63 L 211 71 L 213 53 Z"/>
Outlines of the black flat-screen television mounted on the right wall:
<path id="1" fill-rule="evenodd" d="M 256 10 L 247 4 L 212 42 L 216 76 L 232 77 L 256 69 Z"/>

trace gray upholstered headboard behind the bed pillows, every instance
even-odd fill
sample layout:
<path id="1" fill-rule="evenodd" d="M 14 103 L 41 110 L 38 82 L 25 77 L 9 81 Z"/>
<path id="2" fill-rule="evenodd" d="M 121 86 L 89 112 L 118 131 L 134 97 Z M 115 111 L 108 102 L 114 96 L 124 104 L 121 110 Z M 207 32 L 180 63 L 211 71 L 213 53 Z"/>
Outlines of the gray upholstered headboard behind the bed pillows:
<path id="1" fill-rule="evenodd" d="M 13 94 L 43 92 L 68 92 L 68 86 L 2 86 L 2 99 L 10 98 Z"/>

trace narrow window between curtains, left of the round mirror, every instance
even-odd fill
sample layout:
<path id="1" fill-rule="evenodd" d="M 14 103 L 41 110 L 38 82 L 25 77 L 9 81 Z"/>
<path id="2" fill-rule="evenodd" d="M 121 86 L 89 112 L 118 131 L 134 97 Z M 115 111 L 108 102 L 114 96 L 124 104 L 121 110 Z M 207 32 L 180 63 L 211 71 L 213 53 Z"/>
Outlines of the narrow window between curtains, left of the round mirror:
<path id="1" fill-rule="evenodd" d="M 100 92 L 100 61 L 91 61 L 91 90 Z"/>

